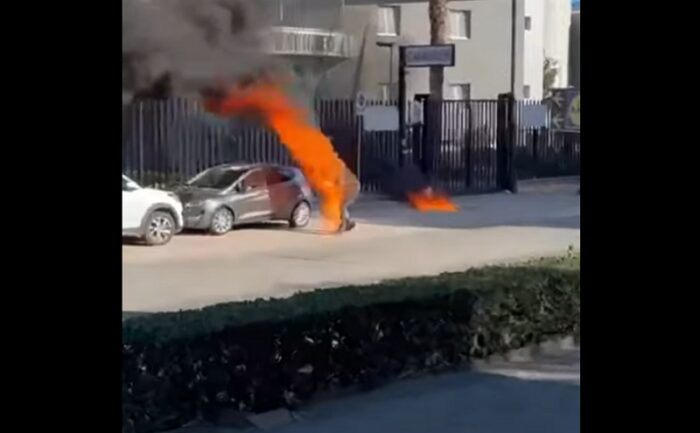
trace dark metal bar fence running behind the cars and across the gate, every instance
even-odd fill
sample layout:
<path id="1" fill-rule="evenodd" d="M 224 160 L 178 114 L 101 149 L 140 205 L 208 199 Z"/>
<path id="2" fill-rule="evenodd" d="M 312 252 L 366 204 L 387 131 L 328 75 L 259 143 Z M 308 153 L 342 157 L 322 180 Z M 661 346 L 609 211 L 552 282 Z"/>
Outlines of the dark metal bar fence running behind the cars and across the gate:
<path id="1" fill-rule="evenodd" d="M 369 102 L 379 104 L 395 102 Z M 451 193 L 507 188 L 503 179 L 512 170 L 508 155 L 520 178 L 578 174 L 578 135 L 554 133 L 548 127 L 522 128 L 522 107 L 515 103 L 513 118 L 505 119 L 503 112 L 510 110 L 502 109 L 500 100 L 428 104 L 423 122 L 408 127 L 406 160 Z M 338 155 L 359 175 L 363 191 L 379 191 L 382 177 L 376 167 L 399 164 L 398 132 L 364 131 L 352 100 L 319 100 L 314 110 Z M 245 119 L 219 118 L 187 99 L 125 106 L 122 154 L 125 174 L 161 187 L 227 162 L 293 164 L 273 132 Z"/>

